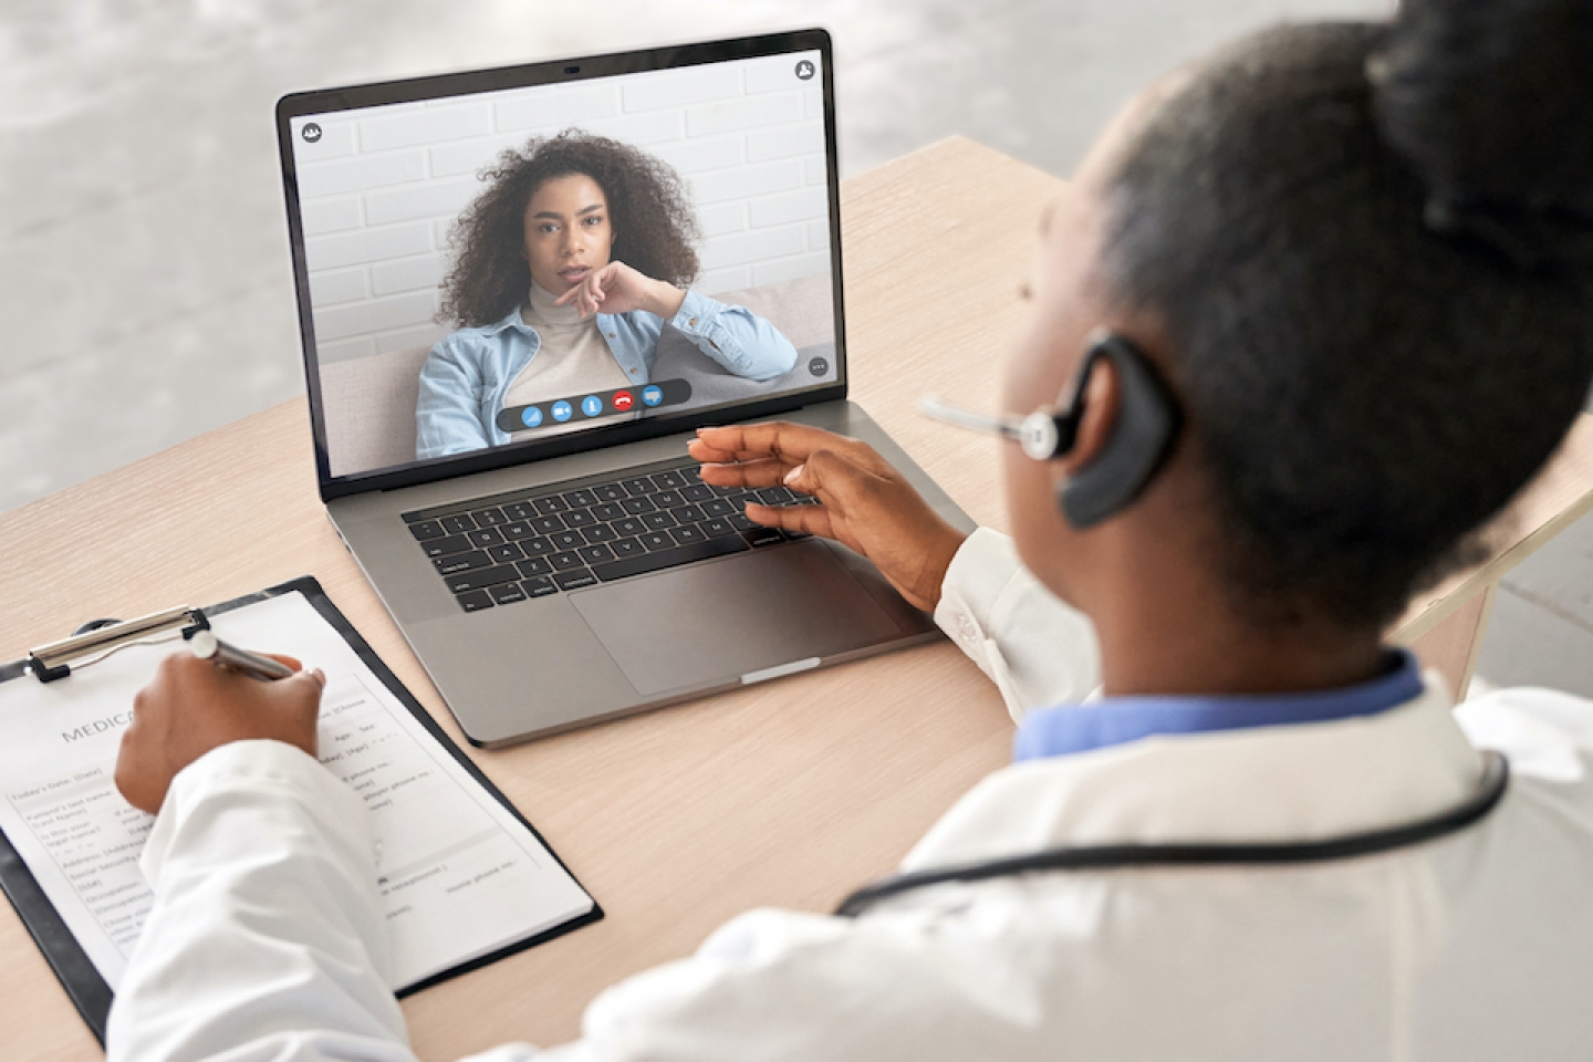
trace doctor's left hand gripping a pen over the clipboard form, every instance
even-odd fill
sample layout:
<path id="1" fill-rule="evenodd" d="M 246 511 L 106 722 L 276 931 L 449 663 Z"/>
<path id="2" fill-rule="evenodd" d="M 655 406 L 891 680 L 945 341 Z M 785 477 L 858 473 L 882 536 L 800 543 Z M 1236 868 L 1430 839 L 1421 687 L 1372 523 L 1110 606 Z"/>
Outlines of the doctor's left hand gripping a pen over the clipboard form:
<path id="1" fill-rule="evenodd" d="M 155 680 L 132 699 L 121 736 L 116 788 L 151 815 L 177 772 L 212 748 L 239 740 L 279 740 L 315 755 L 315 716 L 327 677 L 292 656 L 272 656 L 296 675 L 258 681 L 191 653 L 161 661 Z"/>

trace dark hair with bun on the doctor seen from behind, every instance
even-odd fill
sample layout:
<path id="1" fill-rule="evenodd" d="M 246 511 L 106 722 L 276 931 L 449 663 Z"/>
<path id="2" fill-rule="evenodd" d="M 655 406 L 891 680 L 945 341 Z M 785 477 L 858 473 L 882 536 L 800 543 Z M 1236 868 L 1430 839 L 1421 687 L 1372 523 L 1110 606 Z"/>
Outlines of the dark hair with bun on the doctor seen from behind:
<path id="1" fill-rule="evenodd" d="M 1585 264 L 1518 261 L 1434 215 L 1575 229 L 1590 13 L 1407 0 L 1394 25 L 1274 29 L 1198 70 L 1114 162 L 1102 274 L 1163 331 L 1223 576 L 1258 623 L 1397 618 L 1478 556 L 1587 400 Z M 1488 22 L 1513 32 L 1478 40 Z M 1542 167 L 1501 158 L 1526 103 L 1555 116 L 1531 140 L 1555 162 L 1537 186 Z"/>

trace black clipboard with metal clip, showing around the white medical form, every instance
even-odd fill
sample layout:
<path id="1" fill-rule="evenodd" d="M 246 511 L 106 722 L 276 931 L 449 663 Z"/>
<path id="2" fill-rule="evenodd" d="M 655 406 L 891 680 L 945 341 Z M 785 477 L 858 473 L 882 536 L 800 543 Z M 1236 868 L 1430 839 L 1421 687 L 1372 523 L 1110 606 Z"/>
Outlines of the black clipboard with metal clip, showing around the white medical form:
<path id="1" fill-rule="evenodd" d="M 436 740 L 436 744 L 446 750 L 454 761 L 470 775 L 470 779 L 479 785 L 494 801 L 502 804 L 502 807 L 523 825 L 543 850 L 558 863 L 559 869 L 570 876 L 570 880 L 580 882 L 564 865 L 564 860 L 553 850 L 551 845 L 543 839 L 537 828 L 526 820 L 524 815 L 510 802 L 510 799 L 487 780 L 484 774 L 475 766 L 475 763 L 464 753 L 464 750 L 456 745 L 448 734 L 436 724 L 430 712 L 427 712 L 414 694 L 398 677 L 392 674 L 387 664 L 376 654 L 374 650 L 360 637 L 360 632 L 354 629 L 354 624 L 338 611 L 338 607 L 331 603 L 327 597 L 320 583 L 314 576 L 299 576 L 287 583 L 263 589 L 256 594 L 249 594 L 244 597 L 236 597 L 233 600 L 223 602 L 220 605 L 212 605 L 209 608 L 170 608 L 164 613 L 155 613 L 151 616 L 143 616 L 142 619 L 134 619 L 129 623 L 118 623 L 110 619 L 96 619 L 78 629 L 70 638 L 51 643 L 40 650 L 33 650 L 27 658 L 13 661 L 8 664 L 0 664 L 0 683 L 5 681 L 59 681 L 68 678 L 72 674 L 72 661 L 81 659 L 88 654 L 107 654 L 113 653 L 119 645 L 129 645 L 134 642 L 145 640 L 156 634 L 169 634 L 172 631 L 182 631 L 186 640 L 198 631 L 209 629 L 207 616 L 220 616 L 236 608 L 244 608 L 245 605 L 253 605 L 258 602 L 269 600 L 272 597 L 280 597 L 284 594 L 303 594 L 311 607 L 327 621 L 327 624 L 336 631 L 344 642 L 358 654 L 360 661 L 370 672 L 387 686 L 389 693 L 421 723 L 425 732 Z M 99 659 L 99 658 L 96 658 Z M 89 661 L 92 662 L 92 661 Z M 83 664 L 80 664 L 83 666 Z M 591 892 L 580 885 L 586 895 Z M 0 831 L 0 890 L 5 892 L 6 900 L 16 909 L 18 916 L 22 919 L 22 925 L 27 927 L 29 935 L 33 943 L 43 952 L 45 960 L 54 971 L 56 978 L 61 981 L 61 987 L 65 989 L 67 997 L 72 1005 L 78 1008 L 78 1014 L 88 1022 L 89 1030 L 94 1038 L 99 1040 L 100 1046 L 105 1043 L 105 1022 L 110 1017 L 110 1006 L 113 994 L 110 986 L 100 976 L 99 968 L 89 959 L 88 952 L 67 928 L 65 920 L 61 912 L 56 911 L 54 904 L 49 901 L 43 887 L 33 877 L 27 863 L 13 847 L 11 841 Z M 545 941 L 554 939 L 577 930 L 583 925 L 589 925 L 604 917 L 602 908 L 593 898 L 591 911 L 581 916 L 575 916 L 559 925 L 554 925 L 534 936 L 515 941 L 505 947 L 492 951 L 489 954 L 470 959 L 459 963 L 449 970 L 438 974 L 417 981 L 416 984 L 406 986 L 398 990 L 398 998 L 413 995 L 422 989 L 429 989 L 433 984 L 440 984 L 462 973 L 470 973 L 472 970 L 479 970 L 489 963 L 505 959 L 508 955 L 526 951 Z"/>

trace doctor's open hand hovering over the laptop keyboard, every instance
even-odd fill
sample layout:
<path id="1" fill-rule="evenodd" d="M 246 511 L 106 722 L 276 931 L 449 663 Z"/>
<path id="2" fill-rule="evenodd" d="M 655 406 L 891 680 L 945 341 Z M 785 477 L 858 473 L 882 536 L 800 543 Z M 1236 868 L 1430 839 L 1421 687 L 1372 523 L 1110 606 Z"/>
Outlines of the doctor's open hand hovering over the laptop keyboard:
<path id="1" fill-rule="evenodd" d="M 914 608 L 932 611 L 965 535 L 867 443 L 800 424 L 698 428 L 687 447 L 703 482 L 720 487 L 785 484 L 820 505 L 747 505 L 768 527 L 811 532 L 870 560 Z"/>

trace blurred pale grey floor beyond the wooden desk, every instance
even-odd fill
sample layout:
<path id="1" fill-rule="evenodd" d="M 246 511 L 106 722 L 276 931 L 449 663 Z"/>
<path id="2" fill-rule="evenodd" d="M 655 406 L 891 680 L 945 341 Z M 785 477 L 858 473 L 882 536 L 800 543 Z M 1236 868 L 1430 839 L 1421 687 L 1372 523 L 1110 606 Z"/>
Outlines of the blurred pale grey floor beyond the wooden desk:
<path id="1" fill-rule="evenodd" d="M 0 511 L 303 392 L 272 126 L 284 92 L 822 24 L 836 41 L 843 177 L 951 134 L 1066 175 L 1117 107 L 1168 68 L 1278 19 L 1391 8 L 6 0 Z M 1590 586 L 1593 524 L 1582 532 L 1580 554 L 1569 538 L 1555 543 L 1523 568 L 1520 600 L 1501 600 L 1491 678 L 1553 675 L 1593 694 L 1593 607 L 1544 589 L 1572 575 Z M 1577 557 L 1580 568 L 1563 567 Z M 1532 634 L 1550 621 L 1555 637 Z M 1507 640 L 1504 627 L 1521 634 Z"/>

